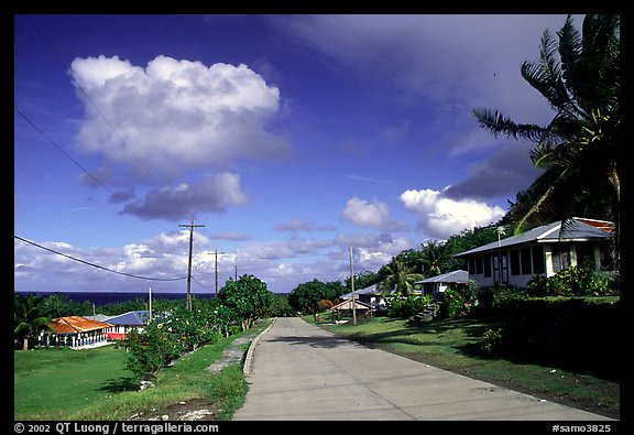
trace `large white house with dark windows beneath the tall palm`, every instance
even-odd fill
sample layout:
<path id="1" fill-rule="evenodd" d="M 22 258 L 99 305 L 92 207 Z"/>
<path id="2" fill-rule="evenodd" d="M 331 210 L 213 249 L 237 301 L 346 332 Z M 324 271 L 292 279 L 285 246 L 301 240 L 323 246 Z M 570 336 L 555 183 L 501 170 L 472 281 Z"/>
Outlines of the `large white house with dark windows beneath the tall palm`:
<path id="1" fill-rule="evenodd" d="M 569 265 L 613 270 L 613 222 L 576 217 L 564 229 L 556 221 L 453 257 L 467 260 L 469 279 L 482 287 L 526 287 L 537 274 L 553 276 Z"/>

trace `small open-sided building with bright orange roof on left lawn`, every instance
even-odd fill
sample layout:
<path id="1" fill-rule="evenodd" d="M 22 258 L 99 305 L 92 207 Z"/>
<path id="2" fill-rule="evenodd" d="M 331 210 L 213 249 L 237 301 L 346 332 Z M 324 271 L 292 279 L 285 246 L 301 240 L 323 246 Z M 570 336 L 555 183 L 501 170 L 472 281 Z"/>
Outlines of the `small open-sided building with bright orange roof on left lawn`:
<path id="1" fill-rule="evenodd" d="M 40 346 L 68 346 L 73 349 L 99 346 L 108 342 L 108 333 L 113 325 L 80 316 L 57 317 L 48 323 L 54 333 L 42 331 L 37 336 Z"/>

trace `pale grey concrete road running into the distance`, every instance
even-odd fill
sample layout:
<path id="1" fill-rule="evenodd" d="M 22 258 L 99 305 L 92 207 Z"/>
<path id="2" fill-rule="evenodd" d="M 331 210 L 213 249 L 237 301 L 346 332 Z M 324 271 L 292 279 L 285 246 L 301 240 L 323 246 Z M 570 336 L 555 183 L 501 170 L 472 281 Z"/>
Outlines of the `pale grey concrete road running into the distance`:
<path id="1" fill-rule="evenodd" d="M 610 420 L 339 338 L 280 317 L 251 351 L 234 421 Z"/>

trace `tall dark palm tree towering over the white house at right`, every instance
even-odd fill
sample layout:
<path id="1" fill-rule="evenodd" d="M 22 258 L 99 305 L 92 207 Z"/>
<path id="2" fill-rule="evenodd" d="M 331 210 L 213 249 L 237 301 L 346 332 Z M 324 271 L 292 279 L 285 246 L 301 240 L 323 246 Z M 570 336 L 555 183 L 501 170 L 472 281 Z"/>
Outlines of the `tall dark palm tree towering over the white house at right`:
<path id="1" fill-rule="evenodd" d="M 515 123 L 499 110 L 474 109 L 495 137 L 535 142 L 531 159 L 544 170 L 514 205 L 515 231 L 554 217 L 564 222 L 589 205 L 616 224 L 624 156 L 621 152 L 620 15 L 589 14 L 582 34 L 570 15 L 556 40 L 546 30 L 539 62 L 526 61 L 522 77 L 556 111 L 546 127 Z M 615 238 L 616 250 L 619 237 Z"/>

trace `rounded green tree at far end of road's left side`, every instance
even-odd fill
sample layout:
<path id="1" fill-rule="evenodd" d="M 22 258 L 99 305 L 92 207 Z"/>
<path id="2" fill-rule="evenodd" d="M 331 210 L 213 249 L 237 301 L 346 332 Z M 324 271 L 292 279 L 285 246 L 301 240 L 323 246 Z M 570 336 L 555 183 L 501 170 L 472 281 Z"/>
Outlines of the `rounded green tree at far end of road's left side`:
<path id="1" fill-rule="evenodd" d="M 236 313 L 243 330 L 266 314 L 272 301 L 266 283 L 249 274 L 227 281 L 218 292 L 218 303 Z"/>

